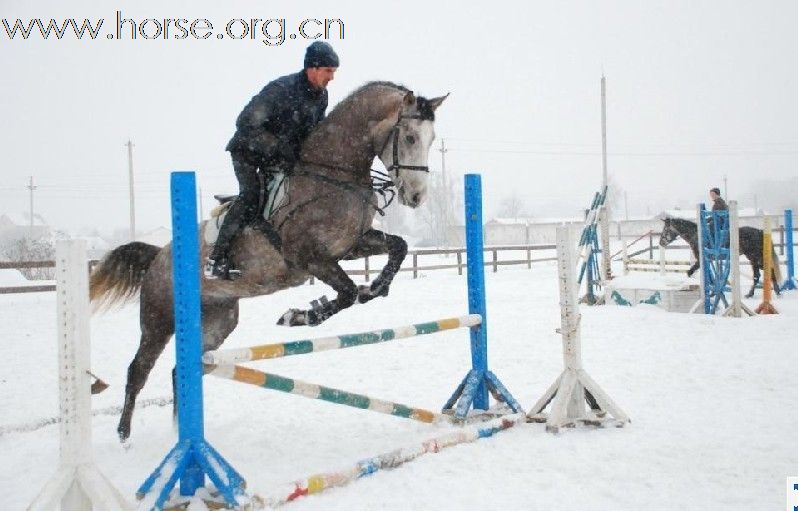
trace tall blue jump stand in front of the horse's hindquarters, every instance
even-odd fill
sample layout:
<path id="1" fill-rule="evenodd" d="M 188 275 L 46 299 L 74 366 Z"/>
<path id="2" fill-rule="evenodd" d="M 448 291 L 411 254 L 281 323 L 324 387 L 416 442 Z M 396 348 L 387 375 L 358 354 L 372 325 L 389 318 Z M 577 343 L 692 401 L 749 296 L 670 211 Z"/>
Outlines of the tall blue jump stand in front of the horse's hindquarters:
<path id="1" fill-rule="evenodd" d="M 205 440 L 199 231 L 194 172 L 172 173 L 172 272 L 177 351 L 177 445 L 138 490 L 139 509 L 162 509 L 180 480 L 180 495 L 205 486 L 205 474 L 227 504 L 243 505 L 244 479 Z"/>

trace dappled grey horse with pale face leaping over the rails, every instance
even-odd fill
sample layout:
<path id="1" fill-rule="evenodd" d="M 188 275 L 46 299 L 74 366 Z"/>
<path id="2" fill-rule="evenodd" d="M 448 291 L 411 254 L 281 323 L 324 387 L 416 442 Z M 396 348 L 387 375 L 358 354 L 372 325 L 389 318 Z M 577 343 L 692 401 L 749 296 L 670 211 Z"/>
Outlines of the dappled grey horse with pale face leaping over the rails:
<path id="1" fill-rule="evenodd" d="M 322 297 L 310 309 L 291 309 L 280 317 L 280 324 L 318 325 L 356 302 L 388 294 L 407 243 L 372 228 L 380 205 L 372 188 L 371 165 L 379 157 L 399 202 L 419 206 L 427 191 L 435 110 L 444 99 L 415 96 L 390 82 L 371 82 L 341 101 L 316 126 L 289 178 L 287 204 L 270 219 L 279 242 L 247 227 L 231 247 L 242 277 L 202 280 L 204 351 L 217 349 L 236 327 L 239 299 L 298 286 L 311 275 L 337 296 Z M 207 256 L 210 248 L 203 237 L 198 257 Z M 387 264 L 368 286 L 357 286 L 339 265 L 344 259 L 386 253 Z M 122 245 L 106 255 L 91 276 L 92 301 L 114 303 L 140 293 L 141 341 L 128 368 L 117 428 L 122 440 L 130 436 L 136 396 L 174 333 L 172 292 L 171 245 Z"/>

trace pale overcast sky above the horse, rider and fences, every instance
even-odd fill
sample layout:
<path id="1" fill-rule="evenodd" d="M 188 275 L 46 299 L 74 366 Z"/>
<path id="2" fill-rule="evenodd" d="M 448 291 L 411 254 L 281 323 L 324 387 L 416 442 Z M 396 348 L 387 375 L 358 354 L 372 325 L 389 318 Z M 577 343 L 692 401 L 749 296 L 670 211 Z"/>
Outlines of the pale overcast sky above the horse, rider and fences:
<path id="1" fill-rule="evenodd" d="M 436 123 L 446 167 L 483 174 L 489 213 L 513 193 L 535 216 L 587 205 L 601 182 L 602 72 L 609 172 L 632 214 L 707 200 L 724 175 L 745 202 L 755 181 L 798 169 L 795 0 L 64 4 L 0 0 L 0 17 L 103 18 L 104 35 L 117 10 L 138 22 L 204 18 L 214 33 L 236 18 L 286 18 L 288 33 L 340 19 L 331 105 L 373 79 L 451 92 Z M 0 27 L 0 213 L 28 211 L 33 176 L 50 224 L 126 227 L 128 139 L 139 230 L 169 225 L 171 170 L 197 170 L 209 209 L 213 193 L 237 191 L 224 146 L 239 111 L 299 70 L 309 43 L 104 35 L 12 41 Z M 440 169 L 438 151 L 430 163 Z"/>

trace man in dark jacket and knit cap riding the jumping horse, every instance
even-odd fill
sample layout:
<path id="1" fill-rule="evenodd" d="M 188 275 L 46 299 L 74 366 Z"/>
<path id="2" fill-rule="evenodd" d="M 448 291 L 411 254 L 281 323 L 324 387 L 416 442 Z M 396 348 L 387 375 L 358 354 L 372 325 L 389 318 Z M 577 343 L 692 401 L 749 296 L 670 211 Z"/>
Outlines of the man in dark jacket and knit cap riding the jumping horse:
<path id="1" fill-rule="evenodd" d="M 232 280 L 241 275 L 231 265 L 228 252 L 236 235 L 259 213 L 260 179 L 268 190 L 274 174 L 291 172 L 305 138 L 324 119 L 327 84 L 338 65 L 332 46 L 316 41 L 305 51 L 302 71 L 270 82 L 239 114 L 226 150 L 240 190 L 205 261 L 207 278 Z"/>

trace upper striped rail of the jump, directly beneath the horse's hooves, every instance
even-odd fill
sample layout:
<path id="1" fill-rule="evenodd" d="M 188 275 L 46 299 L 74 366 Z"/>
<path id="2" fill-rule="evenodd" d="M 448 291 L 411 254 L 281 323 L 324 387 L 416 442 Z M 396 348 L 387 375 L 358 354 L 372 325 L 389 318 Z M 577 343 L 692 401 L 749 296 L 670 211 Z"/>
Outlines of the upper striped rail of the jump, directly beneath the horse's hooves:
<path id="1" fill-rule="evenodd" d="M 292 355 L 303 355 L 318 351 L 353 348 L 366 344 L 393 341 L 417 335 L 434 334 L 444 330 L 477 326 L 482 323 L 479 314 L 469 314 L 459 318 L 439 319 L 428 323 L 418 323 L 383 330 L 372 330 L 359 334 L 304 339 L 277 344 L 263 344 L 248 348 L 208 351 L 202 356 L 202 362 L 208 365 L 232 365 L 250 360 L 264 360 Z"/>

